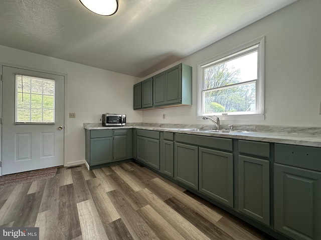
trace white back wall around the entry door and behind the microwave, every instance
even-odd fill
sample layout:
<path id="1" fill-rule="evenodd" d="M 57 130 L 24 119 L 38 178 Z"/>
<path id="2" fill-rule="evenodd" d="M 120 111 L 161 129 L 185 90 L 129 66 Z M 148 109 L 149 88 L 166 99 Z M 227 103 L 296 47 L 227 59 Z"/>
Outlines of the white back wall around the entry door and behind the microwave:
<path id="1" fill-rule="evenodd" d="M 1 45 L 0 62 L 68 74 L 66 111 L 75 112 L 76 118 L 67 118 L 66 165 L 85 159 L 84 122 L 99 122 L 104 112 L 126 113 L 127 121 L 142 121 L 142 113 L 132 109 L 132 86 L 137 77 Z"/>

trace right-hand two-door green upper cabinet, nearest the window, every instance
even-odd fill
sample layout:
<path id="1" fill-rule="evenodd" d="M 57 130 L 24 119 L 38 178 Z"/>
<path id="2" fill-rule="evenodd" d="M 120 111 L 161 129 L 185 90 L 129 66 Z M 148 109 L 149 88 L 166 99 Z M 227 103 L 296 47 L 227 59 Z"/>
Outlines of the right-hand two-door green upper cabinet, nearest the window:
<path id="1" fill-rule="evenodd" d="M 181 63 L 153 77 L 154 106 L 192 104 L 192 67 Z"/>

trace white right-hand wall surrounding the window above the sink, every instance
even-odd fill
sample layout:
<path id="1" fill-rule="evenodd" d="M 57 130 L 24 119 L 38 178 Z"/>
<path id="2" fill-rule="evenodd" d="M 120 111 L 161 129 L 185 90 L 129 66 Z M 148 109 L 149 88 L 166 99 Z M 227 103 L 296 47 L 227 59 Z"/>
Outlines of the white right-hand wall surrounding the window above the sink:
<path id="1" fill-rule="evenodd" d="M 193 67 L 193 105 L 145 110 L 143 121 L 210 124 L 196 120 L 197 64 L 265 35 L 265 120 L 234 121 L 233 124 L 321 127 L 320 9 L 320 0 L 298 0 L 170 65 L 184 62 Z M 163 113 L 166 113 L 165 120 Z"/>

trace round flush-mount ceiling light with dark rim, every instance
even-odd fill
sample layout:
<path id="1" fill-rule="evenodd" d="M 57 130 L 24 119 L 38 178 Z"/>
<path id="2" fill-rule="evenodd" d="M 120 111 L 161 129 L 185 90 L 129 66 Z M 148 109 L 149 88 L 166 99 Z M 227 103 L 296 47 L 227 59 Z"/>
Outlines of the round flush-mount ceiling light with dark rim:
<path id="1" fill-rule="evenodd" d="M 118 9 L 117 0 L 80 0 L 80 2 L 92 12 L 103 16 L 115 14 Z"/>

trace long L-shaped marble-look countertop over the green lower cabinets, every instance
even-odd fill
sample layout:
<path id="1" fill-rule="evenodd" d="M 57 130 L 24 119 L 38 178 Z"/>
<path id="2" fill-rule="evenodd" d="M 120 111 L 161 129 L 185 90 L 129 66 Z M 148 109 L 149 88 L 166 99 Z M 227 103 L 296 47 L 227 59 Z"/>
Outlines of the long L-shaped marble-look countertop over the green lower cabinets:
<path id="1" fill-rule="evenodd" d="M 87 125 L 86 125 L 87 124 Z M 94 125 L 96 124 L 96 125 Z M 321 147 L 321 135 L 320 134 L 309 134 L 309 133 L 286 133 L 286 132 L 258 132 L 258 131 L 231 131 L 228 133 L 219 132 L 205 132 L 193 131 L 184 128 L 190 127 L 162 127 L 162 126 L 143 126 L 143 125 L 126 125 L 126 126 L 101 126 L 97 123 L 85 123 L 85 129 L 97 130 L 97 129 L 122 129 L 122 128 L 136 128 L 145 130 L 156 130 L 156 131 L 169 131 L 176 133 L 185 133 L 193 135 L 203 136 L 215 136 L 275 143 L 285 143 L 303 146 L 315 146 Z"/>

